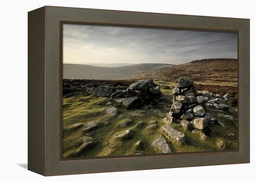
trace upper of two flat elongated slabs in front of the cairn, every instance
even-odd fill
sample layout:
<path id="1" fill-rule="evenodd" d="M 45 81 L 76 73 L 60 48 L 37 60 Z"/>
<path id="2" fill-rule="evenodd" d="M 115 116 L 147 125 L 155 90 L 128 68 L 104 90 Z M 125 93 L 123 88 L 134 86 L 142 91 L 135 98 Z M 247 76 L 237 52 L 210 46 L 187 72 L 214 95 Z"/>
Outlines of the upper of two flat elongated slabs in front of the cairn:
<path id="1" fill-rule="evenodd" d="M 173 127 L 171 127 L 169 125 L 164 125 L 164 126 L 162 126 L 161 129 L 162 129 L 163 134 L 166 136 L 166 138 L 168 138 L 170 140 L 175 140 L 181 144 L 186 143 L 186 140 L 187 140 L 186 136 L 182 132 L 175 130 Z"/>

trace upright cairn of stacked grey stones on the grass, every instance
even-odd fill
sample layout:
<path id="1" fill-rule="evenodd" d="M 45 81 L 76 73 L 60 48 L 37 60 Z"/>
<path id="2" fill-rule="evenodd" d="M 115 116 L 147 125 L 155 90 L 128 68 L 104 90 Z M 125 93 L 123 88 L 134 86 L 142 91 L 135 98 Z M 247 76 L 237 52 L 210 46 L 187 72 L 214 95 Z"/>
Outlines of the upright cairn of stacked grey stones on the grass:
<path id="1" fill-rule="evenodd" d="M 180 123 L 187 129 L 204 129 L 208 126 L 208 120 L 214 118 L 205 113 L 203 99 L 196 91 L 194 82 L 182 76 L 173 89 L 173 104 L 165 121 Z"/>

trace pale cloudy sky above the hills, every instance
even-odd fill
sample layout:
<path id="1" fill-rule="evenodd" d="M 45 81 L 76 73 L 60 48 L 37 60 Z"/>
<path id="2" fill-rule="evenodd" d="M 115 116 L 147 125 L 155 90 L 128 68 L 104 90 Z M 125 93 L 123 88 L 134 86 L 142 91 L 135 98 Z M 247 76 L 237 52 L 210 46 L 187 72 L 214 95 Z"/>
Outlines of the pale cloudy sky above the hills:
<path id="1" fill-rule="evenodd" d="M 171 63 L 237 58 L 237 34 L 63 25 L 63 63 Z"/>

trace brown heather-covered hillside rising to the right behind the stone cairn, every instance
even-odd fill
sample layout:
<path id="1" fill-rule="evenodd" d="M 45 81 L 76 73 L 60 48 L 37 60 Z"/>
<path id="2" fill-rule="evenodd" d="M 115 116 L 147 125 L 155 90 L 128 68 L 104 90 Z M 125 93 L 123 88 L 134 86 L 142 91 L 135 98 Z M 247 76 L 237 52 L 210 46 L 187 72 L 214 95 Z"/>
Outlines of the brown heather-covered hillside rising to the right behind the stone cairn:
<path id="1" fill-rule="evenodd" d="M 195 60 L 123 79 L 168 78 L 177 81 L 181 76 L 188 76 L 198 82 L 237 82 L 237 73 L 237 59 L 216 58 Z"/>

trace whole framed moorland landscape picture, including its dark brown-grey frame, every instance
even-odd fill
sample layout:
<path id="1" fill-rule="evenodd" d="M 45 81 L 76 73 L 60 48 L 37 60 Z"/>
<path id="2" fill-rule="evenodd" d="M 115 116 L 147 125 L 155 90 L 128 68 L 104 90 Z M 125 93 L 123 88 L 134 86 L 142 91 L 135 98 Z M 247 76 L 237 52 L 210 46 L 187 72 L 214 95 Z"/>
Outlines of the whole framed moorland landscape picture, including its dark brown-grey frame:
<path id="1" fill-rule="evenodd" d="M 249 19 L 28 13 L 28 169 L 249 163 Z"/>

